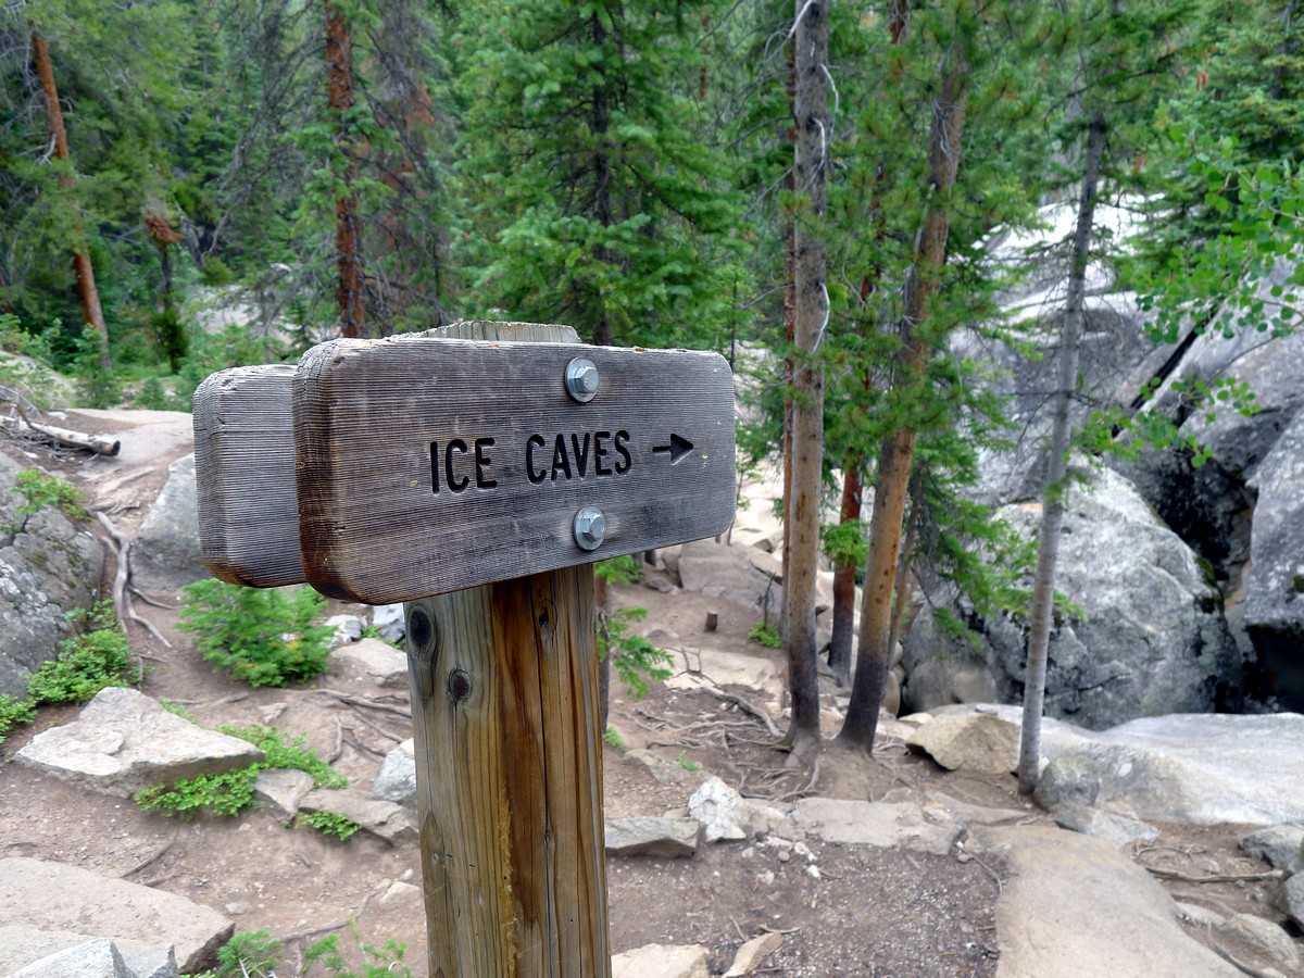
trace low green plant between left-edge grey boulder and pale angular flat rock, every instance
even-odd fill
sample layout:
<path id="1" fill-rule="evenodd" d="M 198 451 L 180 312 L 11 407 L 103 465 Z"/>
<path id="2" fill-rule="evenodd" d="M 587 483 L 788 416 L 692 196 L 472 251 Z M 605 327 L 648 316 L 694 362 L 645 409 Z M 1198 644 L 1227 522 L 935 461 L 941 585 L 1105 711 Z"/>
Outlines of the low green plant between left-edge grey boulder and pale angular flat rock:
<path id="1" fill-rule="evenodd" d="M 34 707 L 51 703 L 85 703 L 106 686 L 129 686 L 130 647 L 117 625 L 111 601 L 91 610 L 77 609 L 69 621 L 81 634 L 59 645 L 59 655 L 42 662 L 27 681 Z"/>

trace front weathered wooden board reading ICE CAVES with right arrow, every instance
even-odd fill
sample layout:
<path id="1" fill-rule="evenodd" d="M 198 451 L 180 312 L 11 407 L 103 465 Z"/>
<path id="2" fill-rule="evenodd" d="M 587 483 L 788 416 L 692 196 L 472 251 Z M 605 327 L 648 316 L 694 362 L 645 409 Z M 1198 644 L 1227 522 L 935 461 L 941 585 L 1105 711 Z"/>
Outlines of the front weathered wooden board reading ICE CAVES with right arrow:
<path id="1" fill-rule="evenodd" d="M 588 400 L 567 387 L 578 357 Z M 715 353 L 322 344 L 293 381 L 305 576 L 389 604 L 722 533 L 733 409 Z"/>

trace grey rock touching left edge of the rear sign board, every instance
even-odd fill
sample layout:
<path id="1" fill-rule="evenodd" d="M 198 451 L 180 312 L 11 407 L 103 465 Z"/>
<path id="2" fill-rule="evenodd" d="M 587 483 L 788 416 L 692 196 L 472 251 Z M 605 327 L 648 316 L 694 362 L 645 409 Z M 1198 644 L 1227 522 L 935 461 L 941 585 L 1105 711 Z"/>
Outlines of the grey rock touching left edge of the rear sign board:
<path id="1" fill-rule="evenodd" d="M 132 548 L 132 574 L 145 591 L 172 595 L 209 576 L 200 556 L 194 455 L 168 466 L 167 482 L 141 524 Z"/>

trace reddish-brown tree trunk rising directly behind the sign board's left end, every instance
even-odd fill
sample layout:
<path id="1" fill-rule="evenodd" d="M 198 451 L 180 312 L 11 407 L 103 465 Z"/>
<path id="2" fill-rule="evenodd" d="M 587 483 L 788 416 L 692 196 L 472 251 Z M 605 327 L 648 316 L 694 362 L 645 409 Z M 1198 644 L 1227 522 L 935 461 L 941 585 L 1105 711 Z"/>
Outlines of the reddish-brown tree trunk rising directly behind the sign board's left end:
<path id="1" fill-rule="evenodd" d="M 335 197 L 336 304 L 342 336 L 366 335 L 366 292 L 363 278 L 363 219 L 357 201 L 357 146 L 348 113 L 353 108 L 353 33 L 335 0 L 326 8 L 326 104 L 335 125 L 335 143 L 344 155 L 344 181 Z"/>

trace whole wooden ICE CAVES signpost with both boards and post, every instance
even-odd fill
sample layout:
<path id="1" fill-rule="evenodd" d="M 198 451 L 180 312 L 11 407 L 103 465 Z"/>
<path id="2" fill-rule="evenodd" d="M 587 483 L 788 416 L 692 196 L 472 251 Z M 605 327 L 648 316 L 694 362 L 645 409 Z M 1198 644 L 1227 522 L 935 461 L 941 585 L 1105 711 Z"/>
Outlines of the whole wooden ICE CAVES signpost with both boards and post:
<path id="1" fill-rule="evenodd" d="M 574 340 L 338 340 L 288 396 L 282 373 L 218 376 L 202 417 L 196 398 L 218 576 L 292 583 L 297 536 L 319 591 L 407 602 L 432 975 L 609 974 L 592 562 L 733 519 L 728 364 Z M 258 383 L 275 407 L 241 396 Z"/>

